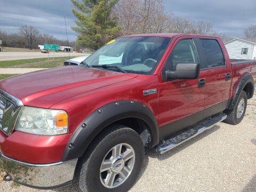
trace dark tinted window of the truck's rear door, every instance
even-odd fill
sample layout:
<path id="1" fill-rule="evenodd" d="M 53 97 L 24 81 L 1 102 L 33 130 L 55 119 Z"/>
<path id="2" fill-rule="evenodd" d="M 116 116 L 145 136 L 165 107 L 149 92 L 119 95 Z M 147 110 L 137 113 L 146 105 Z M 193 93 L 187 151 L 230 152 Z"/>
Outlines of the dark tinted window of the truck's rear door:
<path id="1" fill-rule="evenodd" d="M 225 59 L 218 41 L 215 39 L 200 39 L 203 46 L 206 66 L 205 68 L 225 66 Z"/>

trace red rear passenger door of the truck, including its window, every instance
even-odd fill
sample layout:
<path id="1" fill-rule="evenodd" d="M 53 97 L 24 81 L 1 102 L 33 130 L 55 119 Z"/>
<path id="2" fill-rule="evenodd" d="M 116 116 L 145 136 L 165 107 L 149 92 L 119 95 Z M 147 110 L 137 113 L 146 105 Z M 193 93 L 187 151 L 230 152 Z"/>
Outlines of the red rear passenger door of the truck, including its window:
<path id="1" fill-rule="evenodd" d="M 231 68 L 227 66 L 225 56 L 217 39 L 200 38 L 205 70 L 206 94 L 203 118 L 209 117 L 222 110 L 228 104 L 231 86 Z"/>

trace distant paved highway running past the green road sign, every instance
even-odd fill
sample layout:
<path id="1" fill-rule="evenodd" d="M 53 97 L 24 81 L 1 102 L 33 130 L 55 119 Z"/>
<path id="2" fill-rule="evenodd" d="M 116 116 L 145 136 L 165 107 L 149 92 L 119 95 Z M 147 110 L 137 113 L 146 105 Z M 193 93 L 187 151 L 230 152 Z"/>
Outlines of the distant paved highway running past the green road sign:
<path id="1" fill-rule="evenodd" d="M 51 52 L 50 57 L 68 57 L 68 52 Z M 70 56 L 83 56 L 83 55 L 90 55 L 86 53 L 70 53 Z M 7 61 L 7 60 L 18 60 L 18 59 L 34 59 L 34 58 L 47 58 L 47 53 L 41 52 L 0 52 L 0 61 Z"/>

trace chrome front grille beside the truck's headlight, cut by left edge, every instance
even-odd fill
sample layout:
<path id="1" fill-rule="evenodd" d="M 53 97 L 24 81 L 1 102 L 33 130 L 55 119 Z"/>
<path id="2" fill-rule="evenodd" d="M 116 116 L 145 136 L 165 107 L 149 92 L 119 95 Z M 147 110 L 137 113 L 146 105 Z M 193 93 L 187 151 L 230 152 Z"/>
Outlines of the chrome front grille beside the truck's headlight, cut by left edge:
<path id="1" fill-rule="evenodd" d="M 5 134 L 12 134 L 22 106 L 21 100 L 0 89 L 0 130 Z"/>

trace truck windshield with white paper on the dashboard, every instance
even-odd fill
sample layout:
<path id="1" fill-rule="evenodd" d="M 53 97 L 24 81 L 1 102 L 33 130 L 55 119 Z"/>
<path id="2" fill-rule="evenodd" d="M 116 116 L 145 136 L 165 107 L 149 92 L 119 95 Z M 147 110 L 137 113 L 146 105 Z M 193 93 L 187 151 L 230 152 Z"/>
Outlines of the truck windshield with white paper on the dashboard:
<path id="1" fill-rule="evenodd" d="M 148 75 L 154 72 L 170 40 L 166 37 L 117 38 L 86 58 L 79 67 L 119 68 L 125 73 Z"/>

